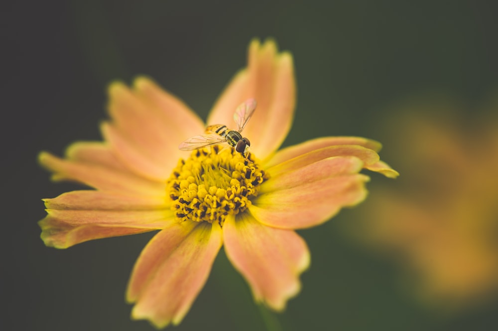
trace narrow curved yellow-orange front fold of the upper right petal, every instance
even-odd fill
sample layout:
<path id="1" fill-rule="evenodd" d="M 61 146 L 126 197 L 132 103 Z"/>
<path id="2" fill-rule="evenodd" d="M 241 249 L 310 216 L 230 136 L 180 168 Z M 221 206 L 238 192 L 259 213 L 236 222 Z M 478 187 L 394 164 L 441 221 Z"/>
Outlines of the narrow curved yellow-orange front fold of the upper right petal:
<path id="1" fill-rule="evenodd" d="M 372 149 L 359 145 L 337 145 L 312 150 L 306 154 L 299 155 L 271 167 L 265 165 L 265 168 L 270 176 L 278 176 L 280 174 L 307 166 L 316 161 L 334 156 L 354 156 L 362 160 L 365 165 L 374 164 L 379 160 L 378 154 Z"/>

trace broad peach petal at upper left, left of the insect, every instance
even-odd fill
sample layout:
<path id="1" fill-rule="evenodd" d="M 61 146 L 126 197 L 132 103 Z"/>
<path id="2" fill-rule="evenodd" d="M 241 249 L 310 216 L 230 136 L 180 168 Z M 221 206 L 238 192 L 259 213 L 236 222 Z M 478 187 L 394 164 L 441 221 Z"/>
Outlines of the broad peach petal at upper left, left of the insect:
<path id="1" fill-rule="evenodd" d="M 113 83 L 109 88 L 111 123 L 105 138 L 123 163 L 144 177 L 164 180 L 180 156 L 178 144 L 204 132 L 204 124 L 183 102 L 147 78 L 135 88 Z"/>

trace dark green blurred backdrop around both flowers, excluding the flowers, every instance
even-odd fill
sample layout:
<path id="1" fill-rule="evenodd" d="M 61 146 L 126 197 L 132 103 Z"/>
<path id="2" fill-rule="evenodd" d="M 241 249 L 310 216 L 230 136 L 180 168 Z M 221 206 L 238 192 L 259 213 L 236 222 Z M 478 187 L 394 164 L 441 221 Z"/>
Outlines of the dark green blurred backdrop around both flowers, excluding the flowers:
<path id="1" fill-rule="evenodd" d="M 154 78 L 203 118 L 246 63 L 252 37 L 294 55 L 290 145 L 326 135 L 389 144 L 381 127 L 404 98 L 480 103 L 498 83 L 493 1 L 28 1 L 3 4 L 2 330 L 152 330 L 129 320 L 126 282 L 152 233 L 47 248 L 36 221 L 52 184 L 40 150 L 98 140 L 106 86 Z M 471 113 L 468 114 L 472 116 Z M 393 166 L 396 166 L 393 164 Z M 398 169 L 402 172 L 402 169 Z M 373 181 L 383 181 L 374 176 Z M 390 182 L 389 185 L 396 185 Z M 371 194 L 375 194 L 371 192 Z M 361 207 L 359 207 L 361 208 Z M 222 252 L 175 330 L 490 330 L 498 302 L 442 315 L 402 293 L 394 262 L 348 240 L 338 223 L 300 231 L 312 254 L 283 314 L 254 305 Z M 266 329 L 265 329 L 266 328 Z"/>

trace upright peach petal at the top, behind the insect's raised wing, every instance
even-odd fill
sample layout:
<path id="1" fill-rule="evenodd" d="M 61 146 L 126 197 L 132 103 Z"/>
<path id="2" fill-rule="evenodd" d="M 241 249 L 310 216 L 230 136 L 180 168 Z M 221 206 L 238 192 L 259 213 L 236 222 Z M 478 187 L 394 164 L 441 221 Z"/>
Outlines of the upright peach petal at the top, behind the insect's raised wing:
<path id="1" fill-rule="evenodd" d="M 256 99 L 257 109 L 244 129 L 251 151 L 265 159 L 282 144 L 294 116 L 296 86 L 292 55 L 277 53 L 273 40 L 249 45 L 248 67 L 225 89 L 208 117 L 208 124 L 233 124 L 234 112 L 242 102 Z M 237 128 L 235 128 L 237 129 Z"/>

